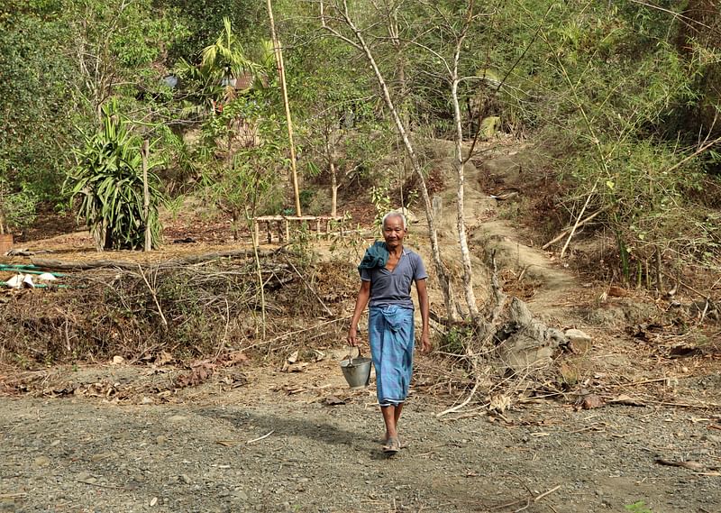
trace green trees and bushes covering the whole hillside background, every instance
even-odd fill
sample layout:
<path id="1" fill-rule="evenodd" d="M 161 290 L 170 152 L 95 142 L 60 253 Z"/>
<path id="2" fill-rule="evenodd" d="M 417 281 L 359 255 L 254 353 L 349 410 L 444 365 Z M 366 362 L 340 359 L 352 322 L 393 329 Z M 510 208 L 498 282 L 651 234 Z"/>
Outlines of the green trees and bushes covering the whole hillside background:
<path id="1" fill-rule="evenodd" d="M 534 133 L 552 147 L 570 186 L 563 198 L 569 218 L 594 190 L 589 212 L 607 208 L 598 220 L 618 237 L 625 270 L 657 251 L 681 260 L 719 257 L 717 215 L 707 209 L 718 206 L 709 192 L 718 187 L 718 145 L 685 159 L 699 138 L 718 131 L 721 13 L 681 13 L 686 4 L 477 5 L 482 16 L 470 24 L 459 55 L 464 133 Z M 354 41 L 333 16 L 335 5 L 326 5 L 326 22 Z M 446 64 L 469 4 L 349 5 L 411 136 L 448 136 Z M 299 169 L 313 179 L 306 187 L 376 185 L 395 201 L 388 169 L 399 159 L 387 157 L 400 150 L 388 137 L 388 113 L 363 55 L 323 37 L 330 32 L 319 26 L 316 3 L 277 0 L 274 7 Z M 683 16 L 693 30 L 680 23 Z M 78 146 L 73 127 L 93 132 L 100 107 L 113 98 L 159 130 L 184 188 L 203 175 L 226 210 L 242 217 L 250 194 L 252 211 L 278 212 L 285 135 L 267 39 L 263 2 L 8 0 L 0 6 L 0 179 L 8 201 L 17 201 L 9 211 L 23 206 L 22 223 L 32 219 L 36 200 L 57 199 L 72 166 L 70 149 Z M 169 69 L 183 74 L 180 87 L 163 85 Z M 227 87 L 248 72 L 250 91 Z M 260 128 L 266 122 L 274 129 Z M 185 146 L 184 131 L 201 124 L 201 141 Z M 270 140 L 252 150 L 258 131 Z M 260 170 L 251 169 L 256 158 Z M 259 194 L 247 188 L 253 183 Z M 322 197 L 304 198 L 305 208 L 321 210 Z"/>

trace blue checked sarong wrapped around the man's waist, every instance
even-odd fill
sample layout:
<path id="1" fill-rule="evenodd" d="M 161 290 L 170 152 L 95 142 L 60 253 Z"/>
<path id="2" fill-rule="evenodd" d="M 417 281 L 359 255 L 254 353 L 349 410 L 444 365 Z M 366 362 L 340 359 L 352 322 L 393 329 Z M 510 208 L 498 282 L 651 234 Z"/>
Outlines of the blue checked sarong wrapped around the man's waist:
<path id="1" fill-rule="evenodd" d="M 368 338 L 376 368 L 380 406 L 397 406 L 408 396 L 413 373 L 414 319 L 411 308 L 370 308 Z"/>

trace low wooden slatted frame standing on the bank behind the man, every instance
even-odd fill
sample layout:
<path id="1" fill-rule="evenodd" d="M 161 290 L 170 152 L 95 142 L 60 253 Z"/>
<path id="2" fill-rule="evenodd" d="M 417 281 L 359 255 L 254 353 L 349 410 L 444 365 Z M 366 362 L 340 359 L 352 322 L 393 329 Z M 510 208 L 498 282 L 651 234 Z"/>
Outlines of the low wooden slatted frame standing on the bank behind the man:
<path id="1" fill-rule="evenodd" d="M 267 243 L 287 243 L 294 232 L 300 231 L 304 224 L 310 236 L 315 239 L 326 240 L 331 235 L 345 234 L 345 218 L 340 215 L 260 215 L 253 217 L 253 238 L 260 244 L 260 225 L 265 227 L 265 240 Z"/>

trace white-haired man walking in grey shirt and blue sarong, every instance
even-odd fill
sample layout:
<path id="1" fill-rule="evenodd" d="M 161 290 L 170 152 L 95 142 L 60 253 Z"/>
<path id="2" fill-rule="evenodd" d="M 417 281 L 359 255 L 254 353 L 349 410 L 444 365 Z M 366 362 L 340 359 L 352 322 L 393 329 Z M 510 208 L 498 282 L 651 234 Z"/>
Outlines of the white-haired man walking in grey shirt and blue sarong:
<path id="1" fill-rule="evenodd" d="M 348 330 L 348 343 L 358 345 L 358 322 L 369 306 L 368 337 L 380 411 L 386 424 L 383 451 L 395 454 L 400 449 L 398 419 L 408 395 L 413 371 L 414 305 L 411 284 L 415 282 L 423 320 L 421 351 L 431 349 L 428 331 L 428 292 L 421 257 L 405 247 L 406 217 L 390 212 L 383 217 L 385 243 L 374 243 L 358 269 L 360 290 Z"/>

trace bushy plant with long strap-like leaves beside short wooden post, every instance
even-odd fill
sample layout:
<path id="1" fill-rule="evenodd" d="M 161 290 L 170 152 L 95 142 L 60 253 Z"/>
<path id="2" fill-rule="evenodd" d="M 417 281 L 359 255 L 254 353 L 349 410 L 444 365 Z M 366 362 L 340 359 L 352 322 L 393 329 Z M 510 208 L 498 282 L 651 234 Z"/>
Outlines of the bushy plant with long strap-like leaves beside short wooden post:
<path id="1" fill-rule="evenodd" d="M 113 103 L 103 107 L 103 127 L 85 134 L 85 146 L 76 151 L 78 165 L 68 174 L 66 189 L 72 201 L 79 197 L 78 218 L 84 218 L 96 244 L 105 249 L 139 249 L 150 224 L 151 244 L 160 243 L 159 179 L 148 162 L 149 216 L 143 209 L 141 138 L 130 131 Z"/>

